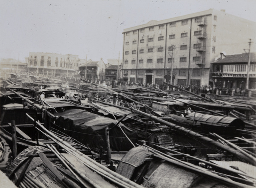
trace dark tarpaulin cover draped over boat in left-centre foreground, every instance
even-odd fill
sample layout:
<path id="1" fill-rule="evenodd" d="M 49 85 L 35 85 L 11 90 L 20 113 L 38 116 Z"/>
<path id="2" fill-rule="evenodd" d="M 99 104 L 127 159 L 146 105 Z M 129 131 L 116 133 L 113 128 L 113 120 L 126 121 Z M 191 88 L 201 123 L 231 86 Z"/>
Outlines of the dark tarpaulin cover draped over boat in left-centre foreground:
<path id="1" fill-rule="evenodd" d="M 81 109 L 70 109 L 55 114 L 55 124 L 62 128 L 62 132 L 78 140 L 90 148 L 107 147 L 105 128 L 111 129 L 116 120 L 99 116 Z M 134 144 L 137 143 L 137 132 L 130 130 L 119 123 L 122 130 Z M 110 146 L 112 150 L 127 151 L 133 148 L 131 142 L 125 137 L 122 130 L 115 126 L 109 130 Z"/>

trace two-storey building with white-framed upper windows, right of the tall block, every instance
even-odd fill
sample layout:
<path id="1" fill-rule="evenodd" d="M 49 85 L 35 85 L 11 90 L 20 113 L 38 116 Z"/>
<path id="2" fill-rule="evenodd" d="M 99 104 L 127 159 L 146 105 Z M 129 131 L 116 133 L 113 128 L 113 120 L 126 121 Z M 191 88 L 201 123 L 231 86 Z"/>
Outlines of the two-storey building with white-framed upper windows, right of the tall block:
<path id="1" fill-rule="evenodd" d="M 212 78 L 215 87 L 246 89 L 249 54 L 221 55 L 212 62 Z M 256 53 L 251 53 L 249 69 L 249 89 L 256 88 Z"/>

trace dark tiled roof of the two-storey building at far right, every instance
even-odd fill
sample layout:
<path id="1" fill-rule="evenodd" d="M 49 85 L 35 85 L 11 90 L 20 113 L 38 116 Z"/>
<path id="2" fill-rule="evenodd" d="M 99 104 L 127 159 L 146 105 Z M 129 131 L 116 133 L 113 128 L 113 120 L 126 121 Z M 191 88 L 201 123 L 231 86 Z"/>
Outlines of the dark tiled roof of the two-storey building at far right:
<path id="1" fill-rule="evenodd" d="M 219 59 L 218 61 L 212 62 L 213 64 L 220 63 L 247 63 L 249 60 L 249 54 L 235 54 L 226 55 L 226 57 Z M 250 53 L 250 62 L 256 62 L 256 53 Z"/>

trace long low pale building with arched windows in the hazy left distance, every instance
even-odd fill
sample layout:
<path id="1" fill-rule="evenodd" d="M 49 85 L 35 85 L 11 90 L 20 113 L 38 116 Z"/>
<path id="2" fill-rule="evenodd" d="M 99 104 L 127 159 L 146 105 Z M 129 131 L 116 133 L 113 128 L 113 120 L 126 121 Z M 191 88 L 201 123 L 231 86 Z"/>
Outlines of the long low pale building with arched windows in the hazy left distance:
<path id="1" fill-rule="evenodd" d="M 29 52 L 28 69 L 40 75 L 70 77 L 78 71 L 79 61 L 78 55 Z"/>

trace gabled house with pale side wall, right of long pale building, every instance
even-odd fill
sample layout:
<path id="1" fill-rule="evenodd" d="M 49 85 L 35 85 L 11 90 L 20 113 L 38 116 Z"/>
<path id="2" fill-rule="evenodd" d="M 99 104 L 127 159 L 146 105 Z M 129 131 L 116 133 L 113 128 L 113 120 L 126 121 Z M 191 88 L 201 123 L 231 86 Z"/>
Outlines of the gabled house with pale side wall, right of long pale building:
<path id="1" fill-rule="evenodd" d="M 91 59 L 86 63 L 79 65 L 79 74 L 82 78 L 93 80 L 105 80 L 106 64 L 104 61 L 92 61 Z"/>

